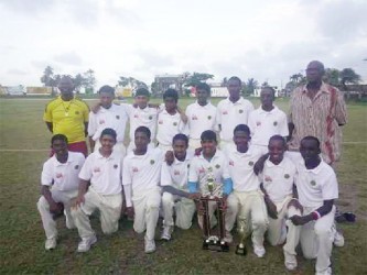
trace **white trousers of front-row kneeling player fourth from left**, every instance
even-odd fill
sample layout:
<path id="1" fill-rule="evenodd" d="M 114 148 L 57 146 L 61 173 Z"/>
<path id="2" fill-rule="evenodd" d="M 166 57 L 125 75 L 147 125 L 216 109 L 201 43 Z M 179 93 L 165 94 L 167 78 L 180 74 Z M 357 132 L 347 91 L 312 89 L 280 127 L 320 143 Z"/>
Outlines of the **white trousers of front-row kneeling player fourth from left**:
<path id="1" fill-rule="evenodd" d="M 163 193 L 163 226 L 174 226 L 173 211 L 176 213 L 176 227 L 181 229 L 190 229 L 192 226 L 193 216 L 196 210 L 195 202 L 192 199 Z"/>

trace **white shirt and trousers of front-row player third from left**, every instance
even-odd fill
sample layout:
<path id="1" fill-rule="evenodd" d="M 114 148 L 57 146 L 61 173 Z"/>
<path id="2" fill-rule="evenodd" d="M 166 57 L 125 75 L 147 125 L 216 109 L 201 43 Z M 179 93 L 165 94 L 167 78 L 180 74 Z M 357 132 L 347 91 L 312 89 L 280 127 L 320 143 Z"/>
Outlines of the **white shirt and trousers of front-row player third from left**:
<path id="1" fill-rule="evenodd" d="M 126 206 L 133 206 L 133 230 L 145 232 L 145 240 L 154 240 L 155 227 L 161 205 L 161 167 L 163 152 L 160 148 L 148 150 L 144 155 L 129 153 L 123 161 L 122 184 Z"/>

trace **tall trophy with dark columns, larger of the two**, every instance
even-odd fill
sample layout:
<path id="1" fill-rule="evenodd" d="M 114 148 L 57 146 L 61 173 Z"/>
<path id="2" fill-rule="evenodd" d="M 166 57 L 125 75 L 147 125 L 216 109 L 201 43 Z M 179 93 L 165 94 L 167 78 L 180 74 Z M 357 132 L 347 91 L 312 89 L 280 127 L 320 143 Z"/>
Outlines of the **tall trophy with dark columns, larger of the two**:
<path id="1" fill-rule="evenodd" d="M 225 238 L 225 204 L 222 197 L 214 196 L 215 187 L 215 177 L 213 175 L 213 169 L 208 168 L 208 174 L 206 177 L 206 186 L 208 189 L 208 195 L 202 195 L 199 198 L 199 206 L 203 217 L 203 232 L 204 232 L 204 250 L 212 250 L 218 252 L 229 251 L 228 244 L 224 241 Z M 217 234 L 212 232 L 211 228 L 211 215 L 209 215 L 209 204 L 216 204 L 217 206 L 217 220 L 218 220 L 218 231 Z"/>

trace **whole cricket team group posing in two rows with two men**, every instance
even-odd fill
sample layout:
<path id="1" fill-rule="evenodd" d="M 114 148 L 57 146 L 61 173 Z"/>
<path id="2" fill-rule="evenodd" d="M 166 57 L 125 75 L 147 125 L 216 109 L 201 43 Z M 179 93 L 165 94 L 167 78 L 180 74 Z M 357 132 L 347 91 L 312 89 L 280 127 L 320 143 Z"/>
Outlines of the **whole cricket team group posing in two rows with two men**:
<path id="1" fill-rule="evenodd" d="M 217 107 L 205 82 L 196 86 L 196 101 L 185 111 L 174 89 L 164 91 L 162 105 L 152 105 L 148 89 L 138 88 L 128 105 L 116 103 L 115 89 L 102 86 L 89 111 L 74 96 L 72 79 L 63 77 L 61 96 L 44 112 L 53 133 L 37 201 L 45 249 L 56 248 L 55 216 L 64 215 L 66 227 L 78 230 L 77 251 L 87 252 L 97 242 L 90 215 L 98 210 L 101 230 L 110 234 L 118 230 L 125 205 L 122 213 L 133 219 L 136 232 L 145 232 L 144 251 L 152 253 L 160 216 L 162 240 L 170 241 L 175 227 L 190 229 L 195 212 L 203 229 L 198 199 L 214 196 L 225 205 L 220 241 L 231 243 L 241 220 L 256 256 L 265 256 L 266 239 L 282 245 L 285 268 L 294 271 L 300 244 L 305 258 L 316 258 L 316 274 L 332 274 L 333 245 L 344 245 L 334 221 L 334 168 L 346 107 L 323 75 L 321 62 L 307 65 L 307 81 L 292 91 L 288 114 L 273 105 L 271 87 L 261 89 L 261 106 L 255 109 L 240 96 L 238 77 L 229 78 L 229 96 Z M 211 188 L 208 177 L 214 178 Z M 214 228 L 217 205 L 212 202 Z"/>

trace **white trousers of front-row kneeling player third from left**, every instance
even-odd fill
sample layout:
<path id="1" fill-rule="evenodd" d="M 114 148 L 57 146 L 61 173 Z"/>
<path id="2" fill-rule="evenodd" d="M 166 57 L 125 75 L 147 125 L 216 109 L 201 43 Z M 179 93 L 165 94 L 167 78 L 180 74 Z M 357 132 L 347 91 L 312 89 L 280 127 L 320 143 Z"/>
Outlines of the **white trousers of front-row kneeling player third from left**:
<path id="1" fill-rule="evenodd" d="M 161 189 L 156 187 L 144 194 L 133 195 L 132 206 L 134 210 L 133 230 L 142 233 L 147 229 L 145 240 L 153 241 L 161 206 Z"/>

